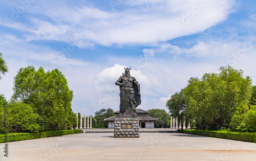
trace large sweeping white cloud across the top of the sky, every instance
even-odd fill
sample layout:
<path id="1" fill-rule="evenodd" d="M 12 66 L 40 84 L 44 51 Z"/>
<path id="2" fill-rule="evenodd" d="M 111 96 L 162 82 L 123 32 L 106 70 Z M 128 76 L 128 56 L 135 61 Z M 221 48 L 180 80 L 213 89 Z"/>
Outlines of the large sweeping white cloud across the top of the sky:
<path id="1" fill-rule="evenodd" d="M 16 24 L 11 26 L 28 32 L 25 36 L 27 41 L 59 40 L 73 43 L 78 38 L 81 41 L 77 44 L 80 48 L 94 44 L 153 44 L 204 31 L 226 19 L 234 5 L 231 0 L 206 0 L 204 7 L 194 11 L 193 6 L 199 6 L 198 3 L 184 0 L 127 1 L 120 3 L 122 10 L 115 12 L 102 11 L 90 5 L 48 5 L 42 6 L 47 12 L 41 12 L 33 10 L 33 7 L 42 4 L 34 3 L 30 10 L 40 17 L 30 16 L 30 22 L 21 25 L 17 25 L 16 20 Z M 191 17 L 189 14 L 192 12 L 195 15 Z M 190 17 L 185 25 L 182 22 L 184 15 Z M 175 22 L 183 23 L 180 32 Z M 1 24 L 5 25 L 4 22 Z"/>

